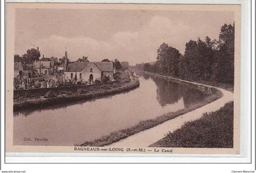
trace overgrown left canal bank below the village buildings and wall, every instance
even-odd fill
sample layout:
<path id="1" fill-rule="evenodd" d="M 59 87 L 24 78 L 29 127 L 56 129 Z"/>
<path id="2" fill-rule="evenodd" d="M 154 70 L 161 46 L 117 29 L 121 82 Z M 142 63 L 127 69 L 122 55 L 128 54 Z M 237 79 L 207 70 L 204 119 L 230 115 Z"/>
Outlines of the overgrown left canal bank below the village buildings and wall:
<path id="1" fill-rule="evenodd" d="M 138 78 L 124 83 L 98 84 L 87 89 L 77 87 L 74 92 L 49 93 L 49 98 L 26 98 L 24 100 L 13 101 L 13 111 L 30 109 L 33 107 L 46 107 L 53 104 L 69 103 L 79 100 L 90 100 L 92 98 L 113 95 L 115 93 L 126 92 L 140 86 Z M 54 94 L 53 96 L 51 96 Z"/>

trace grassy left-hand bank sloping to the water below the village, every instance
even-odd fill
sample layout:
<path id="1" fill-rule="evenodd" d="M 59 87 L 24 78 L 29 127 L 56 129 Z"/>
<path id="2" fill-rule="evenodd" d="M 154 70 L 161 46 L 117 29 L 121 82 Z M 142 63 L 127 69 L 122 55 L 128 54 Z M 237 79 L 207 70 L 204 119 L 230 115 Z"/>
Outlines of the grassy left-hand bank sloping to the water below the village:
<path id="1" fill-rule="evenodd" d="M 124 92 L 127 90 L 135 89 L 140 86 L 139 81 L 131 81 L 130 83 L 116 84 L 118 86 L 102 87 L 102 89 L 91 89 L 88 93 L 74 93 L 71 95 L 58 95 L 51 98 L 37 98 L 23 101 L 15 101 L 13 103 L 13 111 L 21 109 L 30 109 L 33 107 L 46 107 L 52 104 L 69 103 L 79 100 L 90 100 L 96 97 L 102 97 L 105 95 L 112 95 L 115 93 Z"/>

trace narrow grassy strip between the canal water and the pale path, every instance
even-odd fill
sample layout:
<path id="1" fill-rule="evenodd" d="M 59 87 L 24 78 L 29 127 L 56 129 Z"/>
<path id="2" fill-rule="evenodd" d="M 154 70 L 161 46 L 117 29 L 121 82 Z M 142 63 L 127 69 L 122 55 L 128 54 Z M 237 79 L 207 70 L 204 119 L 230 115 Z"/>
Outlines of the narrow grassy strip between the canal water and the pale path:
<path id="1" fill-rule="evenodd" d="M 152 74 L 152 75 L 155 75 L 155 74 Z M 161 76 L 161 77 L 169 79 L 168 76 Z M 175 80 L 175 79 L 173 79 L 173 80 Z M 187 82 L 187 81 L 183 81 L 183 82 Z M 188 82 L 188 83 L 193 84 L 190 82 Z M 197 84 L 193 84 L 193 85 L 197 85 Z M 205 86 L 202 85 L 202 87 L 205 87 Z M 182 110 L 177 110 L 176 112 L 170 112 L 168 114 L 161 115 L 160 117 L 157 117 L 154 119 L 140 121 L 138 124 L 135 124 L 135 126 L 128 127 L 126 129 L 122 129 L 117 132 L 113 132 L 110 135 L 106 135 L 106 136 L 98 138 L 96 140 L 85 141 L 85 143 L 82 143 L 81 146 L 106 146 L 106 145 L 110 145 L 112 143 L 114 144 L 114 146 L 119 146 L 118 145 L 119 142 L 117 142 L 117 141 L 123 140 L 124 138 L 127 138 L 127 137 L 128 138 L 133 137 L 137 134 L 141 134 L 142 131 L 145 132 L 147 129 L 152 129 L 153 127 L 158 127 L 159 124 L 163 124 L 168 120 L 179 117 L 183 114 L 187 114 L 188 112 L 191 112 L 192 110 L 195 110 L 199 107 L 205 106 L 208 103 L 212 103 L 213 101 L 221 98 L 223 95 L 220 90 L 215 89 L 214 87 L 210 87 L 210 86 L 207 86 L 207 92 L 208 92 L 208 97 L 205 98 L 205 100 L 202 101 L 202 103 L 195 104 L 191 107 L 187 107 Z M 143 139 L 145 140 L 145 138 L 143 136 L 140 136 L 140 141 Z M 153 138 L 153 140 L 154 140 L 154 142 L 157 141 L 157 140 L 155 140 L 155 138 Z M 140 144 L 139 144 L 140 141 L 138 141 L 137 146 L 140 146 Z M 150 144 L 152 144 L 152 143 L 150 143 Z M 115 144 L 117 144 L 117 145 L 115 145 Z M 130 146 L 130 145 L 128 144 L 126 146 Z"/>

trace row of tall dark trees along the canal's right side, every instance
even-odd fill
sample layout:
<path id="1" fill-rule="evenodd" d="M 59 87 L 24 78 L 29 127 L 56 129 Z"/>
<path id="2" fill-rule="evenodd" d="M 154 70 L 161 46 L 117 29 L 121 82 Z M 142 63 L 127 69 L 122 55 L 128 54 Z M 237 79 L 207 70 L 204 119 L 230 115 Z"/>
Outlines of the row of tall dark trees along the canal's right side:
<path id="1" fill-rule="evenodd" d="M 137 64 L 137 68 L 161 75 L 190 81 L 215 81 L 233 84 L 235 22 L 224 24 L 219 39 L 190 40 L 182 55 L 179 50 L 163 43 L 157 49 L 154 64 Z"/>

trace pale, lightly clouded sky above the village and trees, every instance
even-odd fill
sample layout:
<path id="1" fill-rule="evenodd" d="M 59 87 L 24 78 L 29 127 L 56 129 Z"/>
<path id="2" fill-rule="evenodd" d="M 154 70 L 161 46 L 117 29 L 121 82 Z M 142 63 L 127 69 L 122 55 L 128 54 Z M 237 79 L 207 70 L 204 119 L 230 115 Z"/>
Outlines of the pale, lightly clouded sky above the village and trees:
<path id="1" fill-rule="evenodd" d="M 15 11 L 15 54 L 39 47 L 41 56 L 75 61 L 119 59 L 131 65 L 156 60 L 163 42 L 184 53 L 198 37 L 218 39 L 233 12 L 171 10 L 92 10 L 18 8 Z"/>

